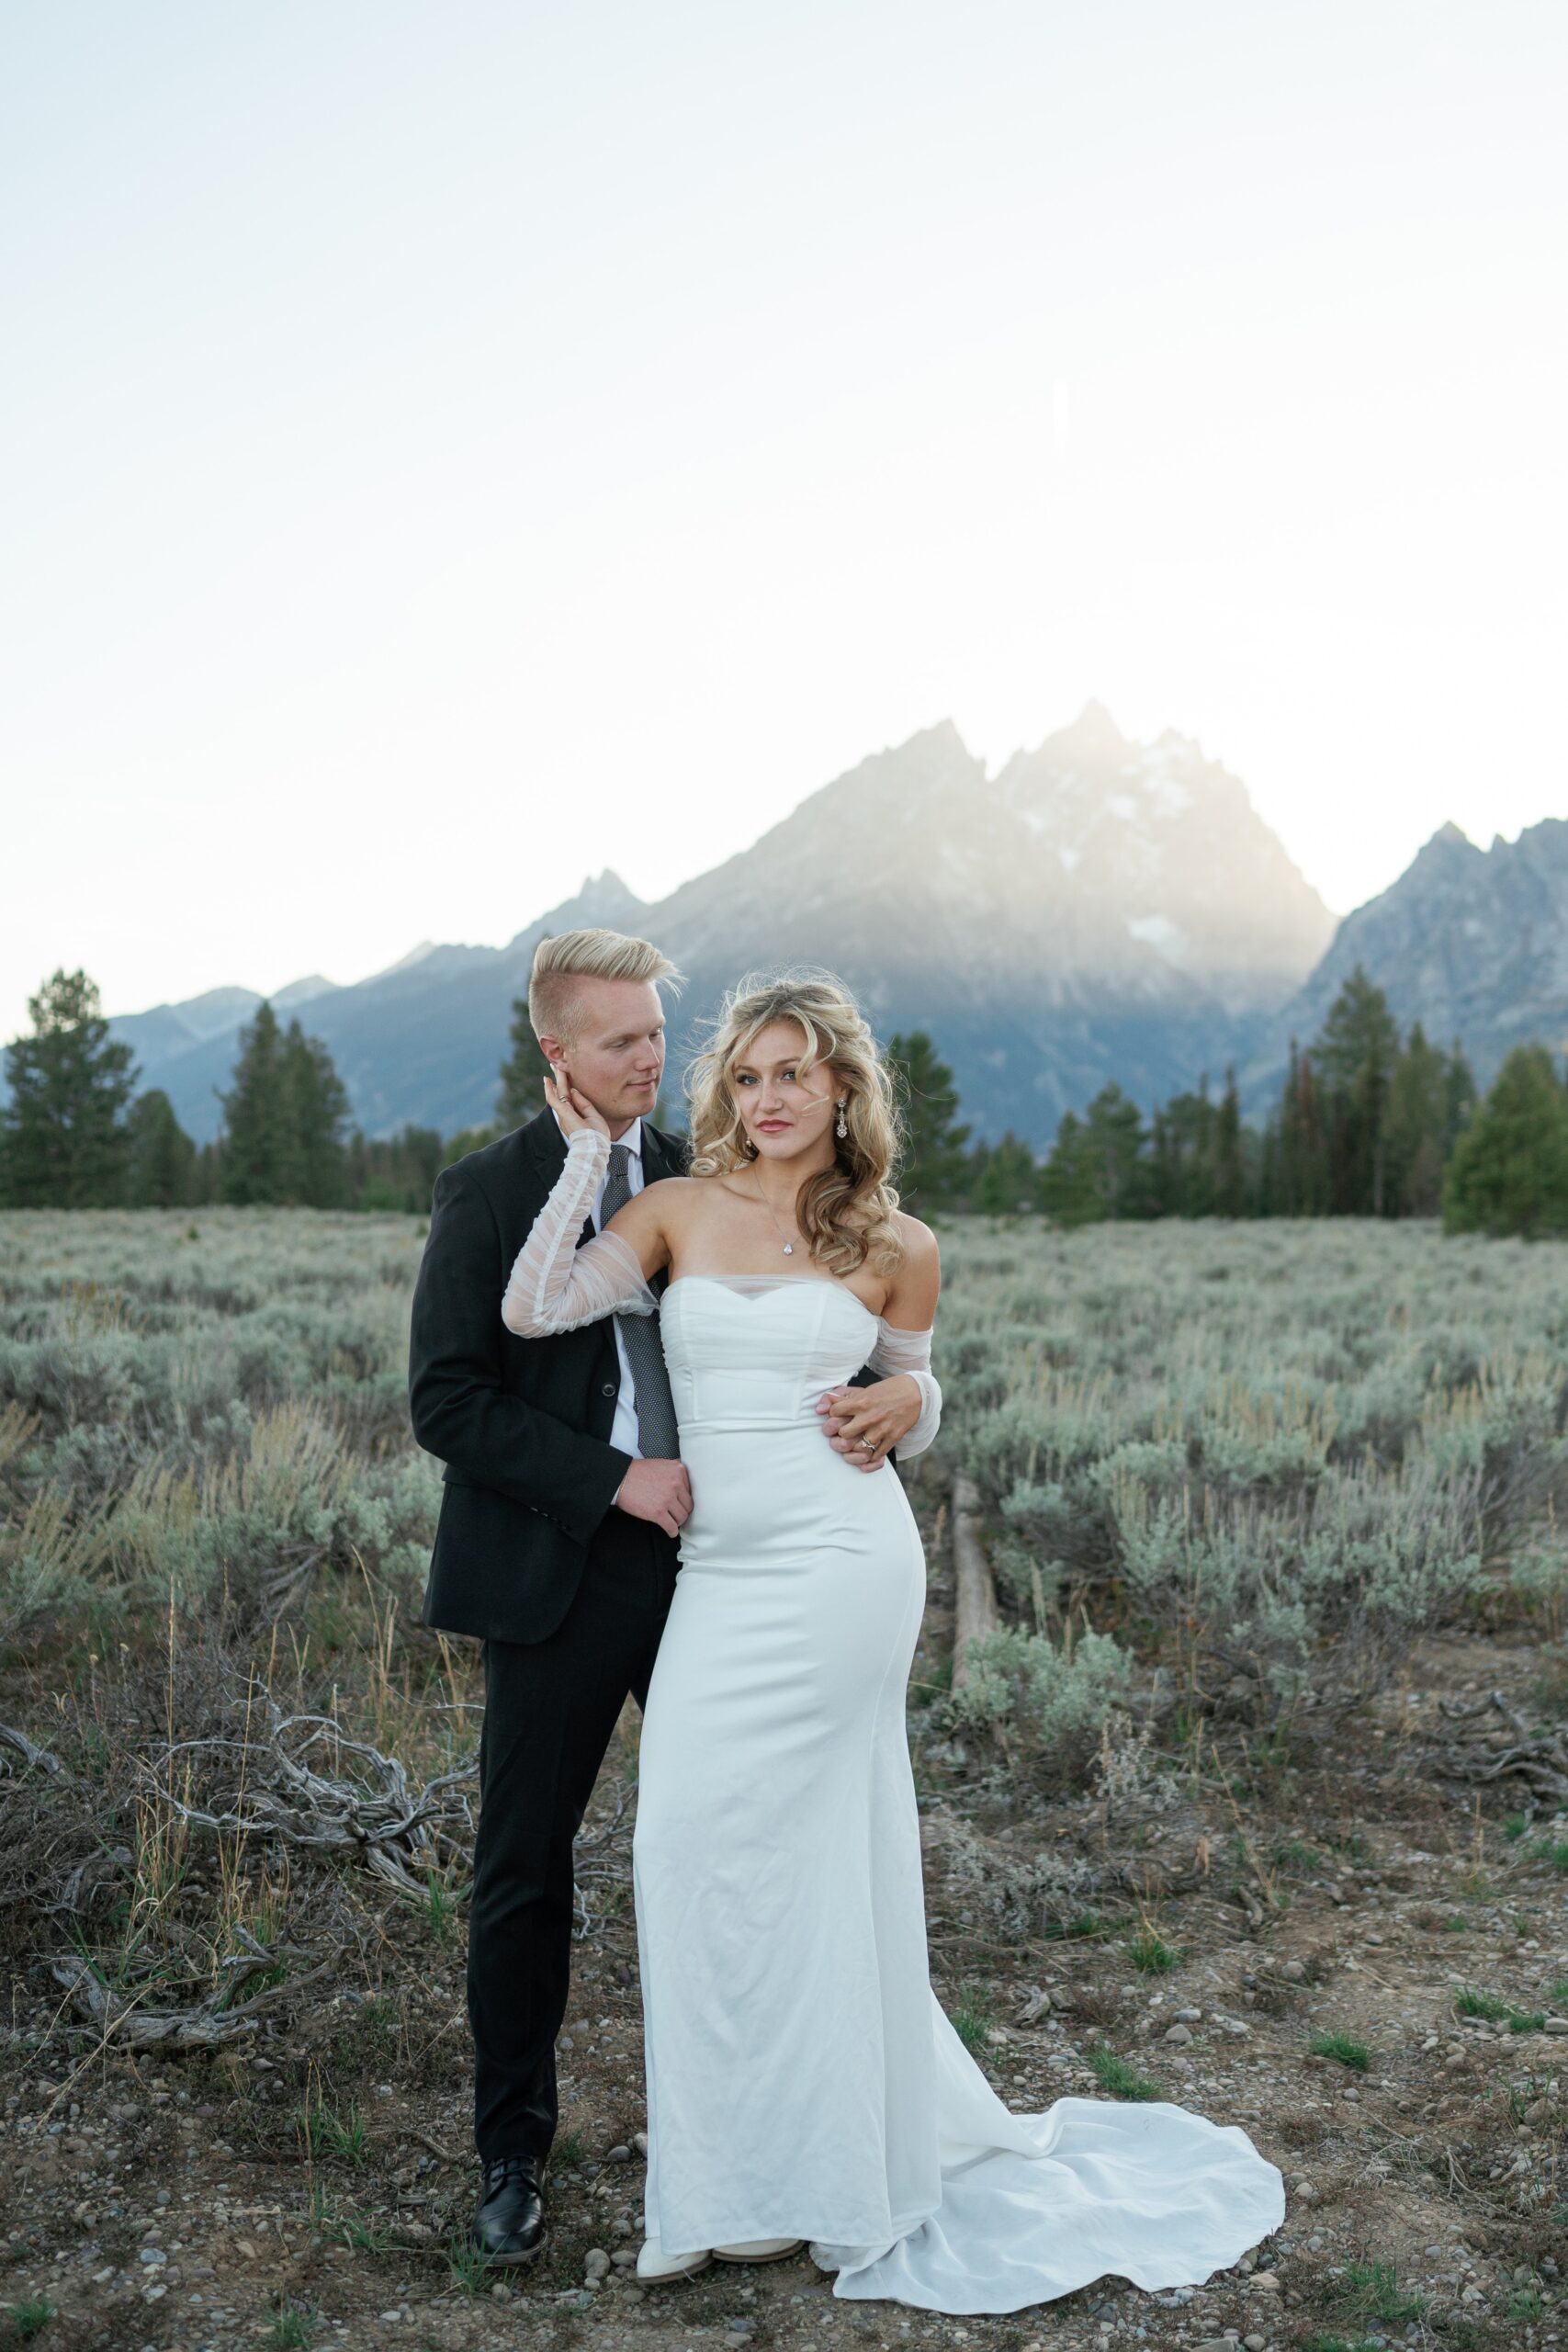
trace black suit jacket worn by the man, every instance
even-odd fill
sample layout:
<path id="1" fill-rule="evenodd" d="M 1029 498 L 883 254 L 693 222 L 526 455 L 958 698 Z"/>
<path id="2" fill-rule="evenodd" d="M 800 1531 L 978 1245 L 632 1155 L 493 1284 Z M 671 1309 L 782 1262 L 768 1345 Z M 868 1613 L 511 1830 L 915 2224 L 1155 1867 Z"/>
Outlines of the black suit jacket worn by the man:
<path id="1" fill-rule="evenodd" d="M 423 1609 L 442 1632 L 552 1635 L 630 1468 L 609 1442 L 621 1390 L 614 1322 L 555 1338 L 520 1338 L 501 1322 L 505 1277 L 564 1160 L 562 1131 L 541 1110 L 435 1181 L 409 1409 L 416 1439 L 447 1465 Z M 682 1138 L 644 1120 L 642 1181 L 684 1169 Z"/>

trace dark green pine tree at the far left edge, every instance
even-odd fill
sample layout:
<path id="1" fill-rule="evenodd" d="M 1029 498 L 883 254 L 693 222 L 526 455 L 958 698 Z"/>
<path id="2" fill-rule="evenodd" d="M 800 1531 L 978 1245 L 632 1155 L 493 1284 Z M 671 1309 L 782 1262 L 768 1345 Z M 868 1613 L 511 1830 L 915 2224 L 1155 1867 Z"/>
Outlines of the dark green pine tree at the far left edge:
<path id="1" fill-rule="evenodd" d="M 28 1016 L 33 1035 L 5 1049 L 2 1197 L 14 1209 L 113 1209 L 132 1155 L 132 1049 L 110 1040 L 85 971 L 56 971 Z"/>

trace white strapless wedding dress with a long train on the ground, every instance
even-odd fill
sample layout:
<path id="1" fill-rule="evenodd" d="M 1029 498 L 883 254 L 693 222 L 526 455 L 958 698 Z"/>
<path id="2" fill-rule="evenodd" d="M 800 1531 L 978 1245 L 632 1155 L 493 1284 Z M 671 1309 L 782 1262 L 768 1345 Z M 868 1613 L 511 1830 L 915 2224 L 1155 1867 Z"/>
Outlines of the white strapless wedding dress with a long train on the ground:
<path id="1" fill-rule="evenodd" d="M 1013 2312 L 1187 2286 L 1284 2218 L 1244 2131 L 1011 2114 L 931 1994 L 905 1682 L 926 1569 L 893 1470 L 813 1411 L 877 1317 L 825 1277 L 686 1275 L 663 1345 L 696 1508 L 642 1731 L 646 2234 L 804 2237 L 835 2293 Z"/>

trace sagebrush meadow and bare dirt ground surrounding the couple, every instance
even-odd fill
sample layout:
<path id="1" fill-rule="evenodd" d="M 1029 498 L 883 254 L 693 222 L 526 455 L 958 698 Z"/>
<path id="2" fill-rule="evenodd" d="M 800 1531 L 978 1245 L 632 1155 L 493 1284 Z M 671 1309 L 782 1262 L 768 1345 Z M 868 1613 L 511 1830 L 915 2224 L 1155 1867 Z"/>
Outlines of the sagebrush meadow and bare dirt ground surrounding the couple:
<path id="1" fill-rule="evenodd" d="M 635 1715 L 578 1856 L 555 2230 L 465 2220 L 477 1653 L 418 1625 L 423 1225 L 0 1216 L 0 2343 L 950 2340 L 639 2234 Z M 999 2347 L 1554 2345 L 1568 2180 L 1568 1247 L 943 1235 L 910 1470 L 938 1990 L 999 2091 L 1168 2096 L 1288 2180 L 1204 2291 Z M 999 1628 L 954 1689 L 954 1491 Z"/>

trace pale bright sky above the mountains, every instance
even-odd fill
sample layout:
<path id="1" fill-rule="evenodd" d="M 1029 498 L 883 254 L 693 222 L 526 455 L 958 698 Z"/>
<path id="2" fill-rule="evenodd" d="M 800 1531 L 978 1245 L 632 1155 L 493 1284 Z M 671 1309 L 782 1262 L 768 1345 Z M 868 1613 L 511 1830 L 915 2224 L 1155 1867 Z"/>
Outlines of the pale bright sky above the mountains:
<path id="1" fill-rule="evenodd" d="M 1568 814 L 1568 12 L 0 7 L 0 1035 L 654 896 L 952 715 L 1335 910 Z"/>

